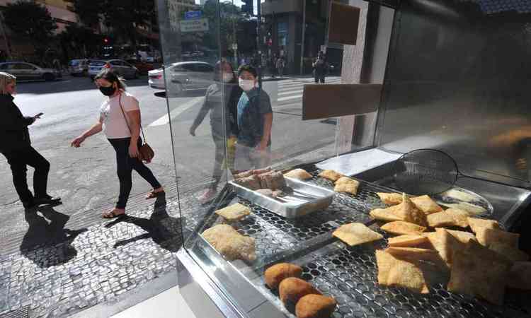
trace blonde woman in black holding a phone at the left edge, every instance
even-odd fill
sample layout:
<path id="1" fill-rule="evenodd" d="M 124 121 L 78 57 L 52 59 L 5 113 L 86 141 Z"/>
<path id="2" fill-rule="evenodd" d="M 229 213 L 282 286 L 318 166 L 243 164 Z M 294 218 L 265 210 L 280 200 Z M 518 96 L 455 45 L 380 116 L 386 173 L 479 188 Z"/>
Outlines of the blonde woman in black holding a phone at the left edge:
<path id="1" fill-rule="evenodd" d="M 47 194 L 48 172 L 50 163 L 31 146 L 28 126 L 33 124 L 35 117 L 24 117 L 21 110 L 13 102 L 16 94 L 16 77 L 0 72 L 0 143 L 2 153 L 13 175 L 13 184 L 18 197 L 25 209 L 40 204 L 58 204 L 61 199 Z M 35 168 L 33 172 L 34 194 L 28 189 L 26 172 L 28 165 Z"/>

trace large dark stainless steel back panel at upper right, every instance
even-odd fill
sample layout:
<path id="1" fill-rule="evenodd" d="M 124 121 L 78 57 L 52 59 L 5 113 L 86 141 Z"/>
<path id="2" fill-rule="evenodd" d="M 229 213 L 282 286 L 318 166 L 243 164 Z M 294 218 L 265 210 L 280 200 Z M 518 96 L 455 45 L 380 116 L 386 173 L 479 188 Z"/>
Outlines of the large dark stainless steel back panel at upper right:
<path id="1" fill-rule="evenodd" d="M 401 1 L 377 142 L 440 149 L 464 174 L 530 187 L 530 4 L 482 3 Z"/>

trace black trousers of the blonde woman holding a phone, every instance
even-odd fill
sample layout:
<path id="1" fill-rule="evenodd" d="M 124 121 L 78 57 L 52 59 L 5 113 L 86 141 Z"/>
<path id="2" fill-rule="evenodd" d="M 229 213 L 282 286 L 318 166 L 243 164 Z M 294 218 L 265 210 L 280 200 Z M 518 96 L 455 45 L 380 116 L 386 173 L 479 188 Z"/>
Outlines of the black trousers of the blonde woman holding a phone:
<path id="1" fill-rule="evenodd" d="M 48 182 L 48 172 L 50 172 L 50 163 L 33 147 L 27 146 L 16 151 L 6 151 L 4 155 L 11 166 L 13 173 L 13 184 L 16 193 L 23 203 L 33 201 L 33 194 L 28 189 L 27 171 L 28 165 L 35 168 L 33 172 L 33 190 L 35 198 L 47 196 L 46 187 Z"/>

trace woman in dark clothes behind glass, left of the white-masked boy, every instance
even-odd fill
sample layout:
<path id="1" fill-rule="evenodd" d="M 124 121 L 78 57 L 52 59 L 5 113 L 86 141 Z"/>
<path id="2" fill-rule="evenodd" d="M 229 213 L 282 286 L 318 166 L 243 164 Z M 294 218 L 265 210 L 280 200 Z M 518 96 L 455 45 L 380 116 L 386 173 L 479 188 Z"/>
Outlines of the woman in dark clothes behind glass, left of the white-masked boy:
<path id="1" fill-rule="evenodd" d="M 236 113 L 238 100 L 242 90 L 234 76 L 234 69 L 227 61 L 218 62 L 214 69 L 214 83 L 207 89 L 205 102 L 190 127 L 190 134 L 195 136 L 195 129 L 202 123 L 210 112 L 210 129 L 215 144 L 215 163 L 212 172 L 214 182 L 207 192 L 200 196 L 202 203 L 210 201 L 216 194 L 217 184 L 222 177 L 223 163 L 227 163 L 229 170 L 234 169 L 234 149 L 238 124 Z M 227 158 L 225 158 L 225 143 L 227 143 Z"/>

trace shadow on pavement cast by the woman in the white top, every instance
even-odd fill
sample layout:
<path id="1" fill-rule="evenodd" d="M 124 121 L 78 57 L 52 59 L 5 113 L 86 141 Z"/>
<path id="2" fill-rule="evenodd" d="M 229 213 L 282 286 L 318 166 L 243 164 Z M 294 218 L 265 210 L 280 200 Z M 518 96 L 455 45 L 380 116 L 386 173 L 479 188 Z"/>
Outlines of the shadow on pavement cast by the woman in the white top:
<path id="1" fill-rule="evenodd" d="M 135 216 L 123 216 L 122 218 L 118 218 L 113 222 L 108 223 L 105 225 L 105 228 L 112 228 L 120 222 L 137 225 L 147 233 L 131 237 L 127 240 L 118 241 L 114 245 L 115 248 L 147 238 L 151 238 L 153 242 L 169 252 L 177 252 L 178 249 L 181 248 L 181 218 L 169 216 L 168 211 L 166 211 L 166 196 L 159 196 L 156 198 L 155 207 L 152 216 L 149 219 L 137 218 Z"/>

